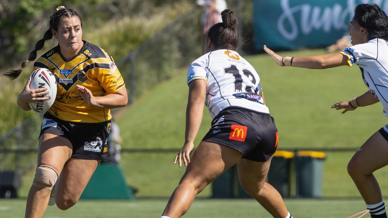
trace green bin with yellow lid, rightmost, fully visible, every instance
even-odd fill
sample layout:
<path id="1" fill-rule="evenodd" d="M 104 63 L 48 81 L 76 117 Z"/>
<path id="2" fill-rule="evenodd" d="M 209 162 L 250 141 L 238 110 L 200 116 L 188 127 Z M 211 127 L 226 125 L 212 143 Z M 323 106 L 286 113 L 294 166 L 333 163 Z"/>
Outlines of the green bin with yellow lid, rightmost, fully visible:
<path id="1" fill-rule="evenodd" d="M 296 154 L 296 197 L 322 197 L 324 152 L 298 151 Z"/>

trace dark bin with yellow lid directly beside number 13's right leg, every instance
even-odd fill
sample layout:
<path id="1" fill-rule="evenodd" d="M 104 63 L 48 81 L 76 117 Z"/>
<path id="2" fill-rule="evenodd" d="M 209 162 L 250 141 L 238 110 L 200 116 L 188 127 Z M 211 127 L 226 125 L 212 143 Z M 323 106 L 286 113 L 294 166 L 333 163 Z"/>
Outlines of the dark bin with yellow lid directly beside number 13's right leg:
<path id="1" fill-rule="evenodd" d="M 268 183 L 272 185 L 282 197 L 290 197 L 290 168 L 293 158 L 294 152 L 278 150 L 271 160 L 271 166 L 268 171 Z"/>

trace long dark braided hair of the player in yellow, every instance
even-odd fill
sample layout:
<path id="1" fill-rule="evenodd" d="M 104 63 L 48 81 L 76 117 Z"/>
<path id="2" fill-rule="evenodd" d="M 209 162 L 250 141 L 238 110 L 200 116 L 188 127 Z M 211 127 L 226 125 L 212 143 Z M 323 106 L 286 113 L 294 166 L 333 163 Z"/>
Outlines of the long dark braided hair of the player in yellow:
<path id="1" fill-rule="evenodd" d="M 81 21 L 81 27 L 82 27 L 82 20 L 81 20 L 81 17 L 77 14 L 77 12 L 75 12 L 72 9 L 66 9 L 63 6 L 58 7 L 58 10 L 52 16 L 50 16 L 50 28 L 43 34 L 43 38 L 35 44 L 35 49 L 29 53 L 28 59 L 22 62 L 21 68 L 17 70 L 10 70 L 6 73 L 3 73 L 3 76 L 8 77 L 10 80 L 16 79 L 21 74 L 24 67 L 27 66 L 28 62 L 34 61 L 36 59 L 36 52 L 43 48 L 46 40 L 49 40 L 52 38 L 51 30 L 52 29 L 54 29 L 55 31 L 58 30 L 58 24 L 61 21 L 61 18 L 64 16 L 66 17 L 77 16 Z"/>

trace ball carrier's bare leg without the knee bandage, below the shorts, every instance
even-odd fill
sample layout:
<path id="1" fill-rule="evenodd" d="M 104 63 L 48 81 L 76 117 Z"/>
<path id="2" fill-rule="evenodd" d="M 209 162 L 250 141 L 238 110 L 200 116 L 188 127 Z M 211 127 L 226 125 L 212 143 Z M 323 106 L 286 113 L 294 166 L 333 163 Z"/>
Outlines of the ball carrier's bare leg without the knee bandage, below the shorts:
<path id="1" fill-rule="evenodd" d="M 55 201 L 77 202 L 100 160 L 70 158 L 55 185 Z"/>

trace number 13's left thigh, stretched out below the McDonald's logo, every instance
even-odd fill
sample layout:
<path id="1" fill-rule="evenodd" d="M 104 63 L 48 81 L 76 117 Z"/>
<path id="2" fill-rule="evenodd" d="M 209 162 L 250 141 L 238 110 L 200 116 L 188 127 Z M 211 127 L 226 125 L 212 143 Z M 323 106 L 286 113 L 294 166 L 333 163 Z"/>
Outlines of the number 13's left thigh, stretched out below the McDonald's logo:
<path id="1" fill-rule="evenodd" d="M 205 182 L 207 185 L 236 164 L 241 157 L 241 152 L 230 147 L 202 141 L 191 157 L 181 182 L 189 181 L 195 183 L 194 185 L 203 185 Z"/>

